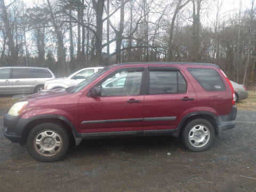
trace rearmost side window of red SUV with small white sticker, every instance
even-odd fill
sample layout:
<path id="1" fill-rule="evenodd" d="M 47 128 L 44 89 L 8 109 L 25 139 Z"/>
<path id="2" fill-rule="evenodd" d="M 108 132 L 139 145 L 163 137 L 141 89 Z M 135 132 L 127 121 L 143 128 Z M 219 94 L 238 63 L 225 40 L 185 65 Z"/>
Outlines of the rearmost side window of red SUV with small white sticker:
<path id="1" fill-rule="evenodd" d="M 206 91 L 224 91 L 226 86 L 214 69 L 188 68 L 189 73 Z"/>

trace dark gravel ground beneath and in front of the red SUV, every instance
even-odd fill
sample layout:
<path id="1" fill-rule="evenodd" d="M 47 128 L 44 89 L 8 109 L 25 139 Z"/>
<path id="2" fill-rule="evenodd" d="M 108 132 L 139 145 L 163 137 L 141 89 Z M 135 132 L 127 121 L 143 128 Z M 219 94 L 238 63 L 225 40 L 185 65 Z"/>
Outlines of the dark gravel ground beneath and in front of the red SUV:
<path id="1" fill-rule="evenodd" d="M 98 139 L 55 163 L 33 159 L 0 125 L 0 191 L 256 191 L 255 119 L 238 111 L 236 127 L 201 153 L 174 137 Z"/>

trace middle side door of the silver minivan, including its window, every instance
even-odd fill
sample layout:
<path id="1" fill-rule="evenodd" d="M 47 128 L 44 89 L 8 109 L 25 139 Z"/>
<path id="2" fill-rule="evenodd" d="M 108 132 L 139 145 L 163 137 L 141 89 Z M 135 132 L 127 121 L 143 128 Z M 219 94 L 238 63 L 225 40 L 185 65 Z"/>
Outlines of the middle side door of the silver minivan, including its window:
<path id="1" fill-rule="evenodd" d="M 28 94 L 33 93 L 33 69 L 32 68 L 15 68 L 12 69 L 12 93 Z"/>

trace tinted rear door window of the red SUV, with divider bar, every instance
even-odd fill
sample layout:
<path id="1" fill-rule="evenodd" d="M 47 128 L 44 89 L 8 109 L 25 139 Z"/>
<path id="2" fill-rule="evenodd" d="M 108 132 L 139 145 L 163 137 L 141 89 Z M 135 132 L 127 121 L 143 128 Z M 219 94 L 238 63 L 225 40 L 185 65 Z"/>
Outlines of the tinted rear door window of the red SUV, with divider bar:
<path id="1" fill-rule="evenodd" d="M 187 85 L 179 71 L 149 71 L 149 94 L 185 93 Z"/>

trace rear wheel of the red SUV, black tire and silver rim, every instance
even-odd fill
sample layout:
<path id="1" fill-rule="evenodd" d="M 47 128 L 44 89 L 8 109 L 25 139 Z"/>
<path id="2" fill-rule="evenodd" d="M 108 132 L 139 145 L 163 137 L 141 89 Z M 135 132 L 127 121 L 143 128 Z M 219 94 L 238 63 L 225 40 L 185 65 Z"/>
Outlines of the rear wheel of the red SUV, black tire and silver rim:
<path id="1" fill-rule="evenodd" d="M 202 131 L 199 131 L 200 125 L 203 125 Z M 196 134 L 192 131 L 193 128 L 194 128 L 194 130 L 198 129 Z M 208 135 L 204 136 L 204 134 L 207 134 L 207 133 L 208 133 Z M 193 138 L 195 138 L 195 139 L 189 140 L 189 135 L 191 135 L 192 137 L 194 136 Z M 205 143 L 199 142 L 200 139 L 198 139 L 197 137 L 204 138 Z M 199 119 L 199 118 L 190 121 L 185 126 L 183 133 L 182 133 L 183 143 L 188 148 L 188 150 L 193 151 L 193 152 L 204 151 L 204 150 L 209 149 L 213 143 L 214 137 L 215 137 L 215 132 L 214 132 L 214 128 L 213 128 L 212 124 L 209 121 L 207 121 L 206 119 Z M 193 144 L 193 141 L 194 141 L 194 144 Z M 195 147 L 197 145 L 197 143 L 198 143 L 198 146 Z"/>

